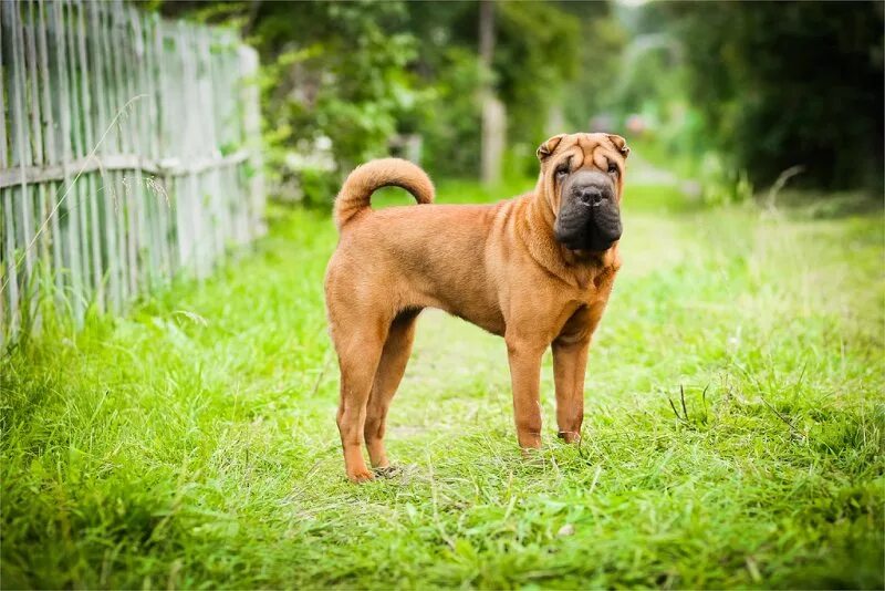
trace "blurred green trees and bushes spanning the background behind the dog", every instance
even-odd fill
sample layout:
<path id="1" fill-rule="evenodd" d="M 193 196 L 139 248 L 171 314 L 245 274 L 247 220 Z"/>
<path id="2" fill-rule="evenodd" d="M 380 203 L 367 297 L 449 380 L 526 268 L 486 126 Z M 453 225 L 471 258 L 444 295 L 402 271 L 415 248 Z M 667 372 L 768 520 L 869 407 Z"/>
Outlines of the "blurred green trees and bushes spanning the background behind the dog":
<path id="1" fill-rule="evenodd" d="M 268 169 L 283 198 L 327 203 L 354 165 L 389 153 L 477 177 L 482 102 L 497 100 L 504 177 L 533 176 L 551 134 L 605 129 L 706 201 L 788 183 L 882 199 L 885 3 L 487 7 L 155 2 L 236 27 L 260 51 Z"/>

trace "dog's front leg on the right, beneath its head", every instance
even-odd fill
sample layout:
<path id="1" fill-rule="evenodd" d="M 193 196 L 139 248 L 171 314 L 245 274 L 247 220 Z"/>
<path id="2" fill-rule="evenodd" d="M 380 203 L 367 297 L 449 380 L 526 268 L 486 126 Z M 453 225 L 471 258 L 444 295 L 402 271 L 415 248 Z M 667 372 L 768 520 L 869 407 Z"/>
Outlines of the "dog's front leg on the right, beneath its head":
<path id="1" fill-rule="evenodd" d="M 556 425 L 568 443 L 581 438 L 584 422 L 584 374 L 590 338 L 553 341 L 553 380 L 556 384 Z"/>

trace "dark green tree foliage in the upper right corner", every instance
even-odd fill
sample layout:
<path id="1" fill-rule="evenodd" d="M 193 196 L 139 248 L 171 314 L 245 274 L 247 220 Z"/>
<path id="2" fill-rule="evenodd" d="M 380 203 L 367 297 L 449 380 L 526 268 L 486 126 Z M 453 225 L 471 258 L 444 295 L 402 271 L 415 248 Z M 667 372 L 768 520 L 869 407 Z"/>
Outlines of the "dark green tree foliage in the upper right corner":
<path id="1" fill-rule="evenodd" d="M 683 43 L 710 144 L 753 182 L 798 165 L 806 185 L 881 189 L 883 4 L 660 8 Z"/>

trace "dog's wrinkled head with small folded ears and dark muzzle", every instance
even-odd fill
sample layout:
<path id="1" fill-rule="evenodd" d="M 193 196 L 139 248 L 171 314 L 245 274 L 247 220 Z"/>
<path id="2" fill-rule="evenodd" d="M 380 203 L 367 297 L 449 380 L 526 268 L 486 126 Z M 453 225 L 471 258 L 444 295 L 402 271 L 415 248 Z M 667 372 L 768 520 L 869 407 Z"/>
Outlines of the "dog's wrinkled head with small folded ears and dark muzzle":
<path id="1" fill-rule="evenodd" d="M 570 250 L 601 252 L 620 239 L 621 195 L 629 148 L 620 135 L 561 134 L 541 144 L 540 188 Z"/>

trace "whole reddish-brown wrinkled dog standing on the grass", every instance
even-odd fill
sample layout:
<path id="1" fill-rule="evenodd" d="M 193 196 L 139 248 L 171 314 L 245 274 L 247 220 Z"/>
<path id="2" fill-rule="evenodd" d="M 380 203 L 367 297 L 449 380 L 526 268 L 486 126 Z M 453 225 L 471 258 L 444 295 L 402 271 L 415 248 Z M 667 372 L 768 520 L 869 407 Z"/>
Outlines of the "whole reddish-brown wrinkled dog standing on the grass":
<path id="1" fill-rule="evenodd" d="M 341 240 L 325 277 L 330 332 L 341 369 L 337 413 L 344 467 L 354 481 L 389 466 L 387 409 L 424 308 L 464 318 L 507 343 L 519 444 L 541 446 L 541 357 L 553 348 L 556 422 L 580 437 L 587 348 L 621 260 L 623 137 L 558 135 L 538 148 L 534 190 L 494 205 L 369 208 L 379 187 L 431 204 L 427 175 L 386 158 L 357 167 L 335 201 Z"/>

